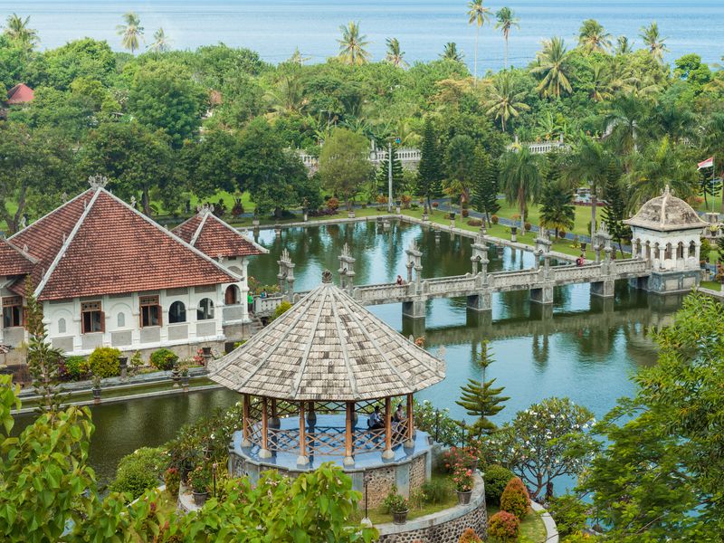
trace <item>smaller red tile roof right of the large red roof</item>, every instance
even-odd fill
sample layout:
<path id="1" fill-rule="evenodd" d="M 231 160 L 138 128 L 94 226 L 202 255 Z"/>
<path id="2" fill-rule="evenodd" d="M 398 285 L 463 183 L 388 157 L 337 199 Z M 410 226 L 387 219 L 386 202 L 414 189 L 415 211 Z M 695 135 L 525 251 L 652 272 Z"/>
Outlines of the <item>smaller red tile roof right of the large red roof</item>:
<path id="1" fill-rule="evenodd" d="M 176 226 L 174 233 L 212 258 L 269 252 L 207 209 Z"/>

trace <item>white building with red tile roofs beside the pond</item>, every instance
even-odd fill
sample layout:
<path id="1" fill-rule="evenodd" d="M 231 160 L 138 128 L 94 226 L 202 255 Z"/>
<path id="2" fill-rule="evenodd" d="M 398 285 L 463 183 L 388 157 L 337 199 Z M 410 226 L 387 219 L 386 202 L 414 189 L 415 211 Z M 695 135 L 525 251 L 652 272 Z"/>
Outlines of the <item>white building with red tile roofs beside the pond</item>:
<path id="1" fill-rule="evenodd" d="M 68 355 L 222 348 L 243 337 L 247 259 L 262 252 L 209 209 L 169 232 L 92 186 L 0 243 L 0 345 L 27 339 L 29 276 L 48 338 Z"/>

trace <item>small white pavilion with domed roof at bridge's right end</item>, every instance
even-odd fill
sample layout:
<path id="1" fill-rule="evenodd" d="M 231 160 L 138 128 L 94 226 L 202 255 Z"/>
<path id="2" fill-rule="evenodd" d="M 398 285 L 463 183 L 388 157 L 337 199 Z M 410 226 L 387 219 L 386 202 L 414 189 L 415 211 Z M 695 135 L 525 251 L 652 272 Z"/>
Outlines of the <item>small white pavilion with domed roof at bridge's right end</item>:
<path id="1" fill-rule="evenodd" d="M 624 224 L 633 233 L 633 256 L 652 263 L 648 291 L 691 291 L 699 284 L 701 235 L 707 224 L 669 186 Z"/>

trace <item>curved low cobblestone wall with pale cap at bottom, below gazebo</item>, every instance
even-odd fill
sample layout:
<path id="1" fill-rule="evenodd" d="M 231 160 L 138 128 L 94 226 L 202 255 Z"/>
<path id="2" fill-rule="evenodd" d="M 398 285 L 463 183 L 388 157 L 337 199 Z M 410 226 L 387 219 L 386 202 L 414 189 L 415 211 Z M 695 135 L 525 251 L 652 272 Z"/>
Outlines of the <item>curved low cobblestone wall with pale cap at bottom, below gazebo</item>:
<path id="1" fill-rule="evenodd" d="M 488 534 L 488 513 L 485 509 L 485 486 L 480 475 L 468 505 L 458 505 L 406 524 L 381 524 L 379 543 L 457 543 L 465 529 L 472 528 L 481 538 Z"/>

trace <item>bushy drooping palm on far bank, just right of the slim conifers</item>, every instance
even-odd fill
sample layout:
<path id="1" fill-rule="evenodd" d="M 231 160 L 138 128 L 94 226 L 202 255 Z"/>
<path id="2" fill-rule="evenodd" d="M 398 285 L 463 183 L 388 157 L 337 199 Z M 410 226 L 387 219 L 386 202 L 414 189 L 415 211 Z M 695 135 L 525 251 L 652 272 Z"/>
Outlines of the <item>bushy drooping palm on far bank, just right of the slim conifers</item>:
<path id="1" fill-rule="evenodd" d="M 543 176 L 541 155 L 533 155 L 528 148 L 508 151 L 502 157 L 500 167 L 500 185 L 505 191 L 509 204 L 518 204 L 520 211 L 520 231 L 525 231 L 525 216 L 529 202 L 534 202 L 540 193 Z"/>

